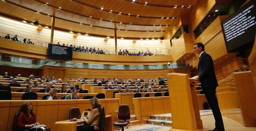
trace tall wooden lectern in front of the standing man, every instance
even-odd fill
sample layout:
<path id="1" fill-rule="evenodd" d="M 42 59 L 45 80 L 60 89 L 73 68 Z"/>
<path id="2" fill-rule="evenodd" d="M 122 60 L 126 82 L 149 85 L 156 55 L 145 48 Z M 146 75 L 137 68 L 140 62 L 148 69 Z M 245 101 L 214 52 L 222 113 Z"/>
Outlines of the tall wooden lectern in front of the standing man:
<path id="1" fill-rule="evenodd" d="M 169 131 L 198 131 L 202 120 L 195 87 L 190 87 L 188 74 L 170 73 L 167 75 L 173 128 Z"/>

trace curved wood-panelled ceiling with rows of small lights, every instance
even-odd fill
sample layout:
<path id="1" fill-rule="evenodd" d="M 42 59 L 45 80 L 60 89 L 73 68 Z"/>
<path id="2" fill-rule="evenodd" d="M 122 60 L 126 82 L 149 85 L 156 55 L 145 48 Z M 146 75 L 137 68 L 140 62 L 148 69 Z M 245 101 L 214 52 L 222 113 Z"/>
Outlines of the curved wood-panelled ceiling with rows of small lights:
<path id="1" fill-rule="evenodd" d="M 198 0 L 1 0 L 6 17 L 38 21 L 66 31 L 131 39 L 160 38 L 188 16 Z M 146 3 L 147 2 L 147 3 Z M 61 7 L 61 8 L 60 8 Z"/>

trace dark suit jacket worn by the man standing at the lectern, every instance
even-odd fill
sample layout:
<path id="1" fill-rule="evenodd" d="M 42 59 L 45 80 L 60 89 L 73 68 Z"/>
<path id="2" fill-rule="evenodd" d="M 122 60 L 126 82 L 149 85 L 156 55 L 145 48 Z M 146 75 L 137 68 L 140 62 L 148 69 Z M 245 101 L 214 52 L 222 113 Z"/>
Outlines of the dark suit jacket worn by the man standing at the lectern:
<path id="1" fill-rule="evenodd" d="M 206 52 L 203 52 L 199 58 L 198 77 L 201 82 L 201 86 L 205 89 L 214 87 L 215 90 L 218 86 L 218 81 L 213 67 L 213 59 Z"/>

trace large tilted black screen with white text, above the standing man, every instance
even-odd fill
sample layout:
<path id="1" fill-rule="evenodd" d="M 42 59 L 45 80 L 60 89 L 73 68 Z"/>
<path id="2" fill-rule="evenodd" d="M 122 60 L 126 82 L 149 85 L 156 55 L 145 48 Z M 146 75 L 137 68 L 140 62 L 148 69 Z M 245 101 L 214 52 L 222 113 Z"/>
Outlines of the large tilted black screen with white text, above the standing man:
<path id="1" fill-rule="evenodd" d="M 256 0 L 251 0 L 221 22 L 228 52 L 242 52 L 254 44 Z"/>

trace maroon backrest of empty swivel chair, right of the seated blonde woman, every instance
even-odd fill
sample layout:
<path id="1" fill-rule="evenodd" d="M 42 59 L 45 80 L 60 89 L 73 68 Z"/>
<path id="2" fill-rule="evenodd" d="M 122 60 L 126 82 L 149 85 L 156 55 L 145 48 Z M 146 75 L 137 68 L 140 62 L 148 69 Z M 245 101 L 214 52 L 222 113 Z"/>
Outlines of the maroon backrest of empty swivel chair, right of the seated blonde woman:
<path id="1" fill-rule="evenodd" d="M 120 105 L 118 109 L 118 119 L 119 120 L 128 120 L 130 119 L 130 109 L 128 105 Z"/>

